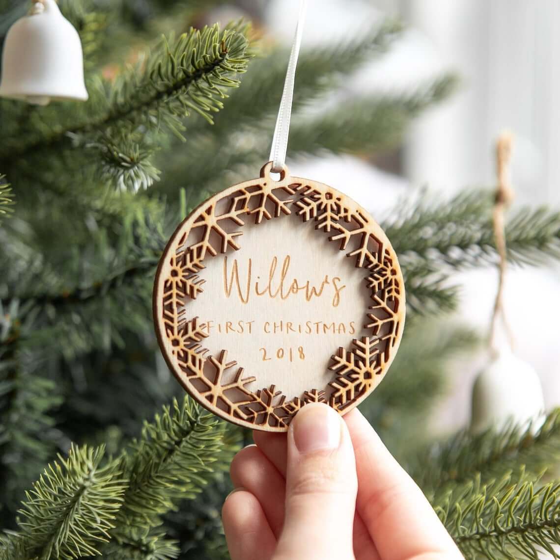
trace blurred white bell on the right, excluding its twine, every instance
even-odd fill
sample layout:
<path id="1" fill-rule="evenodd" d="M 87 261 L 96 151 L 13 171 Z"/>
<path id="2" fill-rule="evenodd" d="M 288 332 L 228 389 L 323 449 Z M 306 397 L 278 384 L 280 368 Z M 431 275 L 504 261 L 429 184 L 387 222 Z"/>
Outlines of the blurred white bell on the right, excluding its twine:
<path id="1" fill-rule="evenodd" d="M 473 386 L 471 431 L 501 430 L 512 422 L 535 432 L 544 421 L 544 396 L 534 368 L 509 348 L 494 352 Z"/>

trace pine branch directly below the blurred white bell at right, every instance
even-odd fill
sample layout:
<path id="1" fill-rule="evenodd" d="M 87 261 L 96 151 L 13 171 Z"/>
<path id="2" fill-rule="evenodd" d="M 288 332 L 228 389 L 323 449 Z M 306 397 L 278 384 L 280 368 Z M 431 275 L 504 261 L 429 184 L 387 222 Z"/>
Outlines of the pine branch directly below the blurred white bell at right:
<path id="1" fill-rule="evenodd" d="M 533 432 L 533 426 L 511 425 L 500 432 L 456 433 L 420 454 L 411 474 L 424 491 L 437 489 L 438 495 L 446 485 L 467 483 L 476 475 L 483 482 L 521 468 L 539 475 L 560 460 L 560 409 L 549 413 L 543 426 Z"/>

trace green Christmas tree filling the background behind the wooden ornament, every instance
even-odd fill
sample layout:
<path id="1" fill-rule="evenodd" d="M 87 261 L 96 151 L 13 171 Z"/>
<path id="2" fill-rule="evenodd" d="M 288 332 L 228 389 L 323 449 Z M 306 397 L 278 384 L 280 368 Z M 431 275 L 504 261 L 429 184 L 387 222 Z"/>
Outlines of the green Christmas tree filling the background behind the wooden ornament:
<path id="1" fill-rule="evenodd" d="M 288 53 L 246 22 L 191 27 L 218 3 L 61 0 L 89 101 L 0 100 L 0 558 L 227 557 L 227 469 L 251 434 L 183 395 L 151 317 L 169 235 L 256 174 L 274 129 Z M 0 34 L 24 12 L 0 0 Z M 456 78 L 443 75 L 297 118 L 400 34 L 387 20 L 300 55 L 291 156 L 394 148 L 452 93 Z M 437 442 L 420 421 L 450 358 L 480 338 L 441 319 L 457 305 L 453 273 L 497 260 L 493 206 L 490 185 L 425 195 L 382 223 L 408 318 L 390 374 L 361 408 L 466 557 L 556 557 L 558 413 Z M 558 259 L 560 213 L 513 210 L 506 239 L 512 263 Z"/>

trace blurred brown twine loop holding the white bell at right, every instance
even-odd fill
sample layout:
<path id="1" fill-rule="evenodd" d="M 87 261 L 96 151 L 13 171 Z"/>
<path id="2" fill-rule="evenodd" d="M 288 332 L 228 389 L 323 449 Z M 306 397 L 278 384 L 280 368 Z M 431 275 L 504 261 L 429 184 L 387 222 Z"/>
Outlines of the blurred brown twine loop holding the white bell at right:
<path id="1" fill-rule="evenodd" d="M 498 251 L 498 291 L 496 300 L 494 301 L 494 311 L 492 313 L 492 321 L 490 323 L 490 348 L 493 352 L 497 352 L 497 328 L 498 318 L 502 320 L 502 326 L 506 332 L 510 348 L 513 349 L 515 341 L 513 333 L 506 319 L 503 306 L 503 290 L 507 270 L 507 246 L 506 246 L 506 211 L 510 207 L 514 193 L 511 186 L 510 178 L 510 160 L 511 149 L 513 144 L 513 134 L 511 132 L 503 132 L 500 134 L 496 142 L 496 171 L 498 176 L 498 184 L 496 187 L 496 198 L 494 209 L 492 212 L 492 224 L 494 230 L 494 240 L 496 240 L 496 250 Z"/>

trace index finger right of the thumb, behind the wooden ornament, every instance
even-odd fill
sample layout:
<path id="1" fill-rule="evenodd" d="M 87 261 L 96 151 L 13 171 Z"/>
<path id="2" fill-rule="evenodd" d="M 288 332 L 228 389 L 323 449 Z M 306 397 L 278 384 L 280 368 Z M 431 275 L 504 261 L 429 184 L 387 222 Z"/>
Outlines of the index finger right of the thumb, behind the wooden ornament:
<path id="1" fill-rule="evenodd" d="M 463 558 L 422 490 L 357 409 L 344 417 L 358 473 L 357 510 L 383 560 Z"/>

